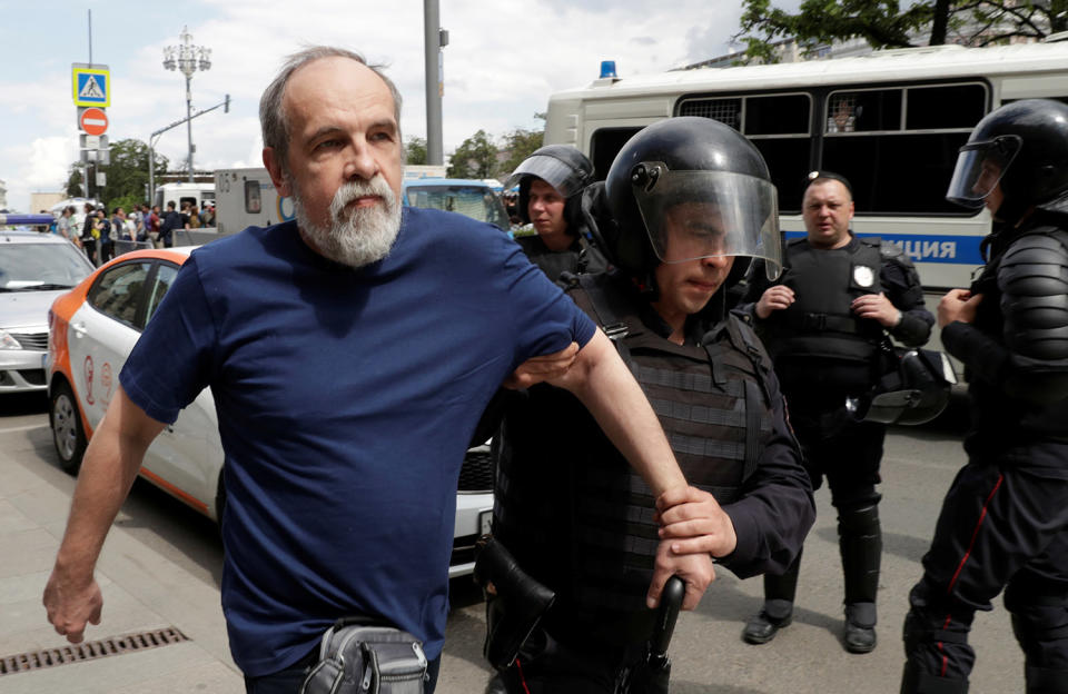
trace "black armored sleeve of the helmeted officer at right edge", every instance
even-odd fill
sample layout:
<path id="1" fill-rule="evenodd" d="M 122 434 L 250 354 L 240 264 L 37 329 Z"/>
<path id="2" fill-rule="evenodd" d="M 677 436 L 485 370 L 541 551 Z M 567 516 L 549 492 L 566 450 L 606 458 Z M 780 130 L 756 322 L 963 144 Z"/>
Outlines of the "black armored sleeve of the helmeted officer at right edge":
<path id="1" fill-rule="evenodd" d="M 998 267 L 1001 340 L 966 323 L 942 330 L 942 343 L 970 378 L 1009 397 L 1038 404 L 1068 397 L 1068 251 L 1055 237 L 1026 235 Z M 980 308 L 980 310 L 982 310 Z"/>

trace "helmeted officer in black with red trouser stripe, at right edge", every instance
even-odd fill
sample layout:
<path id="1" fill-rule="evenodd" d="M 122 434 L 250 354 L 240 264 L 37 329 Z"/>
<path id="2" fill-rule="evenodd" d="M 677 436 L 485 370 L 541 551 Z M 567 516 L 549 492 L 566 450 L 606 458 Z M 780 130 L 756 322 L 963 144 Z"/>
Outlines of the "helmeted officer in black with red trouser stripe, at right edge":
<path id="1" fill-rule="evenodd" d="M 1002 588 L 1027 692 L 1068 692 L 1068 106 L 989 113 L 946 197 L 995 225 L 982 274 L 938 307 L 971 429 L 909 595 L 901 692 L 968 691 L 972 618 Z"/>

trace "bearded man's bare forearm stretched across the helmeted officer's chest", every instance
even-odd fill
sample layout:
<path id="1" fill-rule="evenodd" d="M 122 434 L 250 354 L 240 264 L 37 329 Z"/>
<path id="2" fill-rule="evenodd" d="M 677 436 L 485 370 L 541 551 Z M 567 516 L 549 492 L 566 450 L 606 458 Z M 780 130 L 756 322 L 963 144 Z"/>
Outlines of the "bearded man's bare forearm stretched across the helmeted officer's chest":
<path id="1" fill-rule="evenodd" d="M 586 406 L 654 496 L 686 485 L 645 394 L 603 333 L 582 348 L 564 379 L 551 383 L 567 388 Z"/>

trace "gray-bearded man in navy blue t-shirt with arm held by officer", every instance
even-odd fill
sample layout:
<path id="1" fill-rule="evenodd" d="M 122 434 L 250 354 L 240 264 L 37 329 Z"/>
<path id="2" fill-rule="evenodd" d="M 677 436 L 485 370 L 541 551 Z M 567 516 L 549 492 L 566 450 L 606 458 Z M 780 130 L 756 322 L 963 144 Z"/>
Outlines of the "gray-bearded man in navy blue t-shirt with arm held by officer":
<path id="1" fill-rule="evenodd" d="M 126 363 L 46 587 L 69 641 L 99 621 L 92 569 L 145 449 L 207 386 L 226 452 L 222 608 L 250 692 L 296 692 L 350 615 L 421 638 L 433 691 L 459 467 L 514 375 L 570 389 L 656 495 L 685 496 L 607 338 L 520 247 L 400 207 L 399 107 L 376 68 L 330 48 L 291 57 L 264 93 L 264 162 L 296 221 L 195 251 Z M 714 575 L 665 544 L 651 604 L 671 574 L 689 608 Z"/>

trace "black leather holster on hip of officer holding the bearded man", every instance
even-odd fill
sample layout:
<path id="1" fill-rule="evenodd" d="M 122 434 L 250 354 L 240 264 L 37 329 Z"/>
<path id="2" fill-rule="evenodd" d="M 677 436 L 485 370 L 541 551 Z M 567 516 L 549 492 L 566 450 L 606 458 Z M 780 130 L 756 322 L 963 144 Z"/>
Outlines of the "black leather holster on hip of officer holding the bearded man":
<path id="1" fill-rule="evenodd" d="M 483 588 L 493 584 L 486 599 L 486 642 L 482 653 L 498 671 L 512 666 L 520 647 L 556 599 L 556 594 L 520 568 L 504 545 L 488 535 L 478 539 L 474 577 Z"/>

